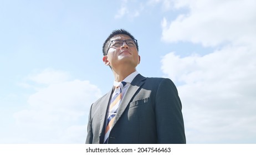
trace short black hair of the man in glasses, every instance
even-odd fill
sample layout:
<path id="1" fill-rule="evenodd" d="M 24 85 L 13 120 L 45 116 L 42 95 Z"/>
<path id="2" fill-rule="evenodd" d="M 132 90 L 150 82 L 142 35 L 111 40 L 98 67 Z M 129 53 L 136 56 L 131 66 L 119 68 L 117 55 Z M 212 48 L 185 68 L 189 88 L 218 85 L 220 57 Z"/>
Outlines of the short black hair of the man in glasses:
<path id="1" fill-rule="evenodd" d="M 118 34 L 125 34 L 125 35 L 128 35 L 131 39 L 135 39 L 133 35 L 131 35 L 127 30 L 125 29 L 116 29 L 116 30 L 113 30 L 109 37 L 107 37 L 107 39 L 105 40 L 104 44 L 103 44 L 103 55 L 106 55 L 107 54 L 107 48 L 108 48 L 108 45 L 110 44 L 110 39 L 112 37 L 114 37 L 115 35 L 118 35 Z M 139 46 L 138 44 L 136 44 L 136 48 L 137 48 L 137 51 L 139 51 Z"/>

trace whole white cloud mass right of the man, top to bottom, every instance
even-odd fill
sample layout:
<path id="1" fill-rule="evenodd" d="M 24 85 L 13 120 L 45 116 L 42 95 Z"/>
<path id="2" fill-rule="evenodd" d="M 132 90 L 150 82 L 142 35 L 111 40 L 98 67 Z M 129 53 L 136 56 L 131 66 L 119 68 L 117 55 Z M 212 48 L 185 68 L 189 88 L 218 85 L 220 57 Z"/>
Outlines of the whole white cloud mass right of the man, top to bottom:
<path id="1" fill-rule="evenodd" d="M 254 1 L 174 1 L 187 7 L 162 21 L 166 42 L 216 47 L 206 55 L 162 59 L 183 104 L 188 143 L 255 143 L 256 11 Z M 189 49 L 188 49 L 189 50 Z"/>

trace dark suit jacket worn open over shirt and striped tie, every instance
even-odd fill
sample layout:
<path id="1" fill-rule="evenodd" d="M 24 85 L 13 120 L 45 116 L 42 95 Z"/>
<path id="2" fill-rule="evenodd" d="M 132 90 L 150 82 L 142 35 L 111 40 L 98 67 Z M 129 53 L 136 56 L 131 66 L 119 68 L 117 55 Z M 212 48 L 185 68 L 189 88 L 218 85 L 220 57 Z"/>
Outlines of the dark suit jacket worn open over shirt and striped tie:
<path id="1" fill-rule="evenodd" d="M 85 143 L 103 143 L 111 93 L 91 105 Z M 181 101 L 173 82 L 138 74 L 122 98 L 108 143 L 186 143 Z"/>

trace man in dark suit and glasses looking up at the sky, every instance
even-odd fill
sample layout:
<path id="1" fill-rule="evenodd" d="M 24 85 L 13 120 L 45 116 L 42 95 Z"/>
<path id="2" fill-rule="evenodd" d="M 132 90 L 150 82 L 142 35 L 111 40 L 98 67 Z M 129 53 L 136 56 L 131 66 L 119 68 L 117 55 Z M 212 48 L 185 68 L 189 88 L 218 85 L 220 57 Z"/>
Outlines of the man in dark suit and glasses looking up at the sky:
<path id="1" fill-rule="evenodd" d="M 137 40 L 114 30 L 103 44 L 103 61 L 114 87 L 91 105 L 85 143 L 186 143 L 181 101 L 170 79 L 144 77 Z"/>

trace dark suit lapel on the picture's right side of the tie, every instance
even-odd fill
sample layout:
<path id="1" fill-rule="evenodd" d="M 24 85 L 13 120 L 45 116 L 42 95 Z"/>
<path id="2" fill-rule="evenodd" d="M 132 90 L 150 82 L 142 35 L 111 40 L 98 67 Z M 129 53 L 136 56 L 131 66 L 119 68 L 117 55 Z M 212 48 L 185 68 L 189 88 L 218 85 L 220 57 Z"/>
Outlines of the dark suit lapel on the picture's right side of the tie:
<path id="1" fill-rule="evenodd" d="M 121 117 L 122 113 L 124 113 L 126 107 L 129 105 L 132 97 L 135 95 L 135 92 L 144 84 L 146 80 L 146 77 L 138 74 L 135 76 L 134 80 L 132 80 L 129 88 L 127 89 L 124 98 L 122 98 L 122 101 L 120 103 L 120 106 L 118 108 L 118 111 L 115 116 L 115 120 L 113 123 L 113 126 L 115 126 L 116 122 L 119 120 Z"/>

